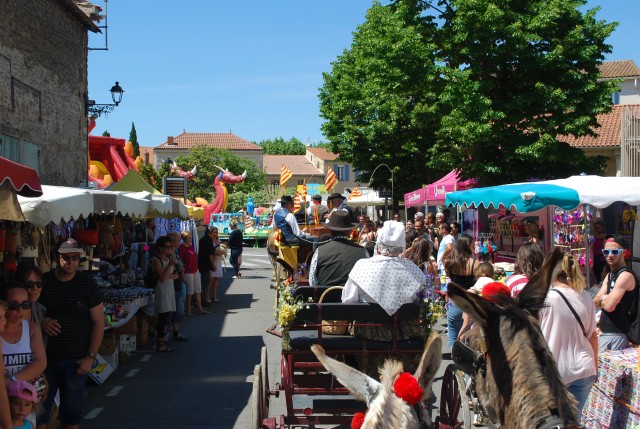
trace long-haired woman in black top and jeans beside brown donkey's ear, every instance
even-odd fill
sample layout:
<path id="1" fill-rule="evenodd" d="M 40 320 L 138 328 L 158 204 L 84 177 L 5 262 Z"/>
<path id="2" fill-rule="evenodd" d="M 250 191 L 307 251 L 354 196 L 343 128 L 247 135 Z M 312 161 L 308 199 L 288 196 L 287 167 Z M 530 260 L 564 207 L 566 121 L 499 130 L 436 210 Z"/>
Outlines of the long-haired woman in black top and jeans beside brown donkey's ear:
<path id="1" fill-rule="evenodd" d="M 469 289 L 476 281 L 473 269 L 476 259 L 473 258 L 473 238 L 467 234 L 458 235 L 458 239 L 453 243 L 453 249 L 444 261 L 444 270 L 452 283 Z M 449 301 L 447 309 L 447 332 L 449 335 L 449 347 L 453 347 L 454 341 L 458 338 L 462 328 L 462 310 Z"/>

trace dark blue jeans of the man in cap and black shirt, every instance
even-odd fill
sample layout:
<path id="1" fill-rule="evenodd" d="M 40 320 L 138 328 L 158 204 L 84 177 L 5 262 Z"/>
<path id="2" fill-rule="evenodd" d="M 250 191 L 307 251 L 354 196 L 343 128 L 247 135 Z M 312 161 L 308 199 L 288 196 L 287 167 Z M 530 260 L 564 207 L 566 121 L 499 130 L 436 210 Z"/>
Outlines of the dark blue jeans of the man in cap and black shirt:
<path id="1" fill-rule="evenodd" d="M 54 360 L 47 362 L 44 375 L 49 383 L 49 393 L 42 401 L 42 414 L 37 416 L 38 425 L 51 421 L 51 407 L 56 392 L 60 389 L 60 410 L 58 419 L 64 425 L 82 423 L 84 406 L 84 387 L 89 377 L 76 373 L 78 365 L 75 359 Z"/>

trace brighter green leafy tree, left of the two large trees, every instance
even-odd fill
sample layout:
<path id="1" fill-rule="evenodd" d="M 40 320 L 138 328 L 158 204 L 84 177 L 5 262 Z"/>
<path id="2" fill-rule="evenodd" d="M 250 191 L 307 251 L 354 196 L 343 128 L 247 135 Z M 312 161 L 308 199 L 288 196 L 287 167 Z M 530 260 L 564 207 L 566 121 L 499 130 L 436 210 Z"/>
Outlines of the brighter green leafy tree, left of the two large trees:
<path id="1" fill-rule="evenodd" d="M 320 114 L 331 150 L 362 172 L 360 181 L 387 164 L 394 171 L 396 196 L 439 175 L 425 169 L 443 84 L 435 32 L 433 20 L 421 15 L 416 2 L 374 2 L 350 49 L 323 74 Z M 388 187 L 389 176 L 378 172 L 371 185 Z"/>

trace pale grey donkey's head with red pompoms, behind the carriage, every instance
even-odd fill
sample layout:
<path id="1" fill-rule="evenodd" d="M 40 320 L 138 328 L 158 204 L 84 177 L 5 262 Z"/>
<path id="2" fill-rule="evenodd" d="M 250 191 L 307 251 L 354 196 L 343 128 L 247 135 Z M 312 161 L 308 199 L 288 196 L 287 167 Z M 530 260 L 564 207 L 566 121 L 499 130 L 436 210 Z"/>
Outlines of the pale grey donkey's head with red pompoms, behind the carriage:
<path id="1" fill-rule="evenodd" d="M 311 351 L 351 394 L 367 403 L 368 411 L 361 429 L 419 429 L 431 427 L 431 417 L 423 409 L 423 401 L 431 392 L 431 385 L 442 360 L 442 340 L 432 332 L 413 377 L 422 388 L 418 404 L 411 406 L 394 391 L 394 383 L 403 372 L 402 363 L 388 359 L 380 368 L 380 382 L 342 362 L 327 357 L 317 344 Z"/>

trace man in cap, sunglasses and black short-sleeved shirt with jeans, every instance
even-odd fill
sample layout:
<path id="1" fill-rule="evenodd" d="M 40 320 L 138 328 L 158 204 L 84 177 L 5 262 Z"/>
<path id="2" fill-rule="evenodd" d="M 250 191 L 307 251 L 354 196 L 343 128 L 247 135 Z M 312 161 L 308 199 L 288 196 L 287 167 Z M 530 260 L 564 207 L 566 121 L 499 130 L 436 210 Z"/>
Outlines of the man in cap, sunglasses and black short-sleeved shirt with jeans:
<path id="1" fill-rule="evenodd" d="M 63 427 L 79 427 L 83 417 L 84 387 L 104 334 L 102 292 L 88 273 L 78 271 L 84 251 L 69 239 L 58 247 L 57 268 L 44 275 L 40 302 L 47 308 L 42 331 L 48 335 L 49 383 L 38 427 L 51 420 L 51 406 L 60 388 L 58 419 Z"/>

